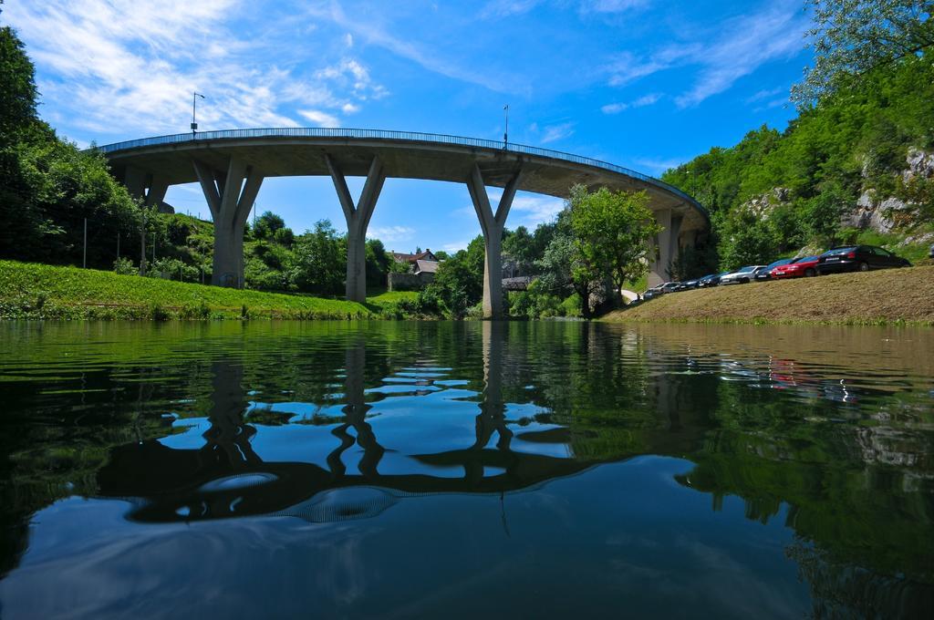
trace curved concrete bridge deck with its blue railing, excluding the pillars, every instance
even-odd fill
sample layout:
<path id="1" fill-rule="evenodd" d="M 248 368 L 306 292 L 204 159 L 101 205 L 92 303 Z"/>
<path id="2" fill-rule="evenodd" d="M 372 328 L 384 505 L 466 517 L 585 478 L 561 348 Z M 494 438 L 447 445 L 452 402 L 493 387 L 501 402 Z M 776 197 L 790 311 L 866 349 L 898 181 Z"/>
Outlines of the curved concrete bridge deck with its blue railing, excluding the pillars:
<path id="1" fill-rule="evenodd" d="M 461 183 L 476 162 L 487 185 L 504 187 L 519 162 L 519 190 L 566 197 L 575 183 L 611 190 L 646 190 L 653 209 L 672 208 L 684 228 L 702 229 L 706 211 L 690 196 L 658 179 L 587 157 L 478 138 L 361 129 L 243 129 L 163 135 L 99 147 L 115 169 L 132 166 L 169 185 L 197 181 L 192 160 L 223 170 L 237 157 L 262 176 L 327 176 L 328 153 L 347 176 L 366 176 L 374 156 L 386 175 Z"/>

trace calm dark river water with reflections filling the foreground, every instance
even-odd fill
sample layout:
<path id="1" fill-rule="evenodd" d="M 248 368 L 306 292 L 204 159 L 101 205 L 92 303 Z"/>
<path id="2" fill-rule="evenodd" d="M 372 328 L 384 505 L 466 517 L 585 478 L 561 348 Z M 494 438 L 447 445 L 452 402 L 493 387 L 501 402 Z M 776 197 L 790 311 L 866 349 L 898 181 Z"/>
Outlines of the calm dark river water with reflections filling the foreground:
<path id="1" fill-rule="evenodd" d="M 923 616 L 932 352 L 882 328 L 7 323 L 0 616 Z"/>

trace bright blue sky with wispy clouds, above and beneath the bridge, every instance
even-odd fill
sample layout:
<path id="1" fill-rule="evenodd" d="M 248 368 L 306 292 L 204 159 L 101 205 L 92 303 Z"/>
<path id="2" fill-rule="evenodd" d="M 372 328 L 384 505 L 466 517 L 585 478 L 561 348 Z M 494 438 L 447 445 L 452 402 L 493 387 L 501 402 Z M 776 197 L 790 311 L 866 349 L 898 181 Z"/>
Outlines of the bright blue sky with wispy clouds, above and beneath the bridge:
<path id="1" fill-rule="evenodd" d="M 188 131 L 364 127 L 555 148 L 658 176 L 763 123 L 782 129 L 810 60 L 802 0 L 7 0 L 40 115 L 80 146 Z M 359 192 L 361 179 L 351 179 Z M 495 197 L 496 192 L 491 191 Z M 166 200 L 208 216 L 201 190 Z M 326 177 L 270 178 L 259 210 L 345 230 Z M 507 226 L 553 218 L 519 194 Z M 457 249 L 480 232 L 466 187 L 389 179 L 387 247 Z"/>

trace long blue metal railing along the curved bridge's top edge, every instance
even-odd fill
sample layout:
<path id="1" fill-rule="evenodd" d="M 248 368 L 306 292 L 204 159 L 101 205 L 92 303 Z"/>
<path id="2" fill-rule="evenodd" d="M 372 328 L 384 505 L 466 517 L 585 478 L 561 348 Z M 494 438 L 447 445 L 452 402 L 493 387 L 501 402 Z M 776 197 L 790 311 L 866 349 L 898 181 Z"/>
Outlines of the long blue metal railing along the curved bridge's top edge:
<path id="1" fill-rule="evenodd" d="M 225 129 L 216 132 L 202 132 L 200 134 L 171 134 L 158 135 L 150 138 L 140 138 L 138 140 L 128 140 L 126 142 L 117 142 L 103 147 L 97 147 L 104 153 L 113 153 L 120 150 L 131 148 L 154 147 L 160 145 L 185 144 L 189 142 L 206 142 L 210 140 L 224 139 L 243 139 L 243 138 L 262 138 L 262 137 L 322 137 L 322 138 L 374 138 L 378 140 L 400 140 L 406 142 L 432 142 L 436 144 L 451 144 L 460 147 L 478 147 L 506 150 L 514 153 L 525 153 L 527 155 L 536 155 L 539 157 L 549 157 L 551 159 L 563 160 L 565 162 L 581 163 L 583 165 L 609 170 L 622 175 L 638 178 L 650 183 L 660 189 L 671 191 L 673 194 L 683 198 L 687 202 L 694 204 L 701 213 L 706 214 L 705 209 L 696 200 L 688 196 L 684 191 L 679 190 L 668 183 L 659 181 L 653 176 L 644 175 L 641 172 L 617 166 L 615 163 L 601 162 L 589 157 L 573 155 L 550 148 L 529 147 L 521 144 L 503 144 L 494 140 L 484 138 L 468 138 L 460 135 L 447 134 L 423 134 L 421 132 L 397 132 L 382 129 L 345 129 L 345 128 L 325 128 L 325 127 L 275 127 L 265 129 Z"/>

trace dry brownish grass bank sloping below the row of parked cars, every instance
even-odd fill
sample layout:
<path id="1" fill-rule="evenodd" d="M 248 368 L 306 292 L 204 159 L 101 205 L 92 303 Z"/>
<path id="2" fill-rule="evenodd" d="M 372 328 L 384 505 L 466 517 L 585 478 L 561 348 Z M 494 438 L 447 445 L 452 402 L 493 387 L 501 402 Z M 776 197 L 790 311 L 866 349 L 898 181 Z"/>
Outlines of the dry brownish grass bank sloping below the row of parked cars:
<path id="1" fill-rule="evenodd" d="M 604 320 L 934 325 L 934 267 L 688 290 Z"/>

